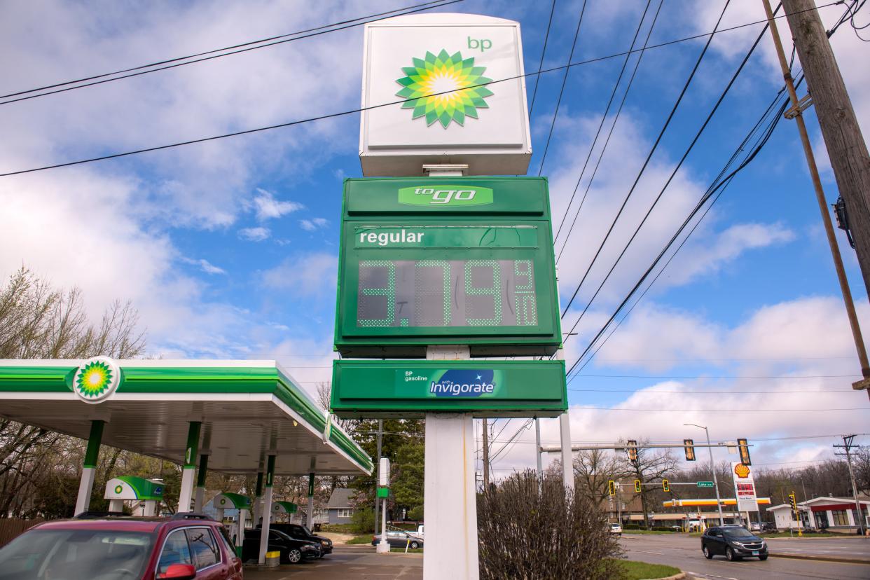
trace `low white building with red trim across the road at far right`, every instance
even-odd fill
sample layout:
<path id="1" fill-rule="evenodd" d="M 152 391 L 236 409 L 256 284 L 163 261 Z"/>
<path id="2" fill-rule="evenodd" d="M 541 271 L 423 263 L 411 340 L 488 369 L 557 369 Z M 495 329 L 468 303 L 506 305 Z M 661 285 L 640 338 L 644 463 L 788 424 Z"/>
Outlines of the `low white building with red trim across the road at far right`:
<path id="1" fill-rule="evenodd" d="M 797 530 L 801 527 L 817 530 L 847 531 L 855 530 L 858 522 L 867 529 L 870 525 L 870 498 L 859 497 L 861 504 L 860 520 L 851 497 L 814 497 L 798 503 L 800 523 L 794 520 L 792 506 L 787 503 L 768 508 L 773 513 L 778 530 Z"/>

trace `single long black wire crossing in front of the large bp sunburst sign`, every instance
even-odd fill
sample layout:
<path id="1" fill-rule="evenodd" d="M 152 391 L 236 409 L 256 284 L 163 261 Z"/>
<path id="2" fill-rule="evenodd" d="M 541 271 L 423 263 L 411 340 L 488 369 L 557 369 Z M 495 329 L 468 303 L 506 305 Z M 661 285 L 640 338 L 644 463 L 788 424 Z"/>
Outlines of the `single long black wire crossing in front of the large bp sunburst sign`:
<path id="1" fill-rule="evenodd" d="M 834 4 L 837 4 L 837 3 L 839 3 L 839 2 L 833 2 L 833 3 L 823 4 L 823 5 L 821 5 L 821 6 L 816 7 L 816 8 L 813 9 L 813 10 L 819 10 L 819 9 L 821 9 L 821 8 L 827 8 L 827 6 L 833 6 Z M 805 11 L 806 11 L 806 10 L 805 10 Z M 796 12 L 796 14 L 797 14 L 797 13 L 800 13 L 800 12 Z M 783 17 L 785 17 L 785 16 L 780 16 L 780 17 L 775 17 L 775 18 L 783 18 Z M 739 24 L 739 25 L 737 25 L 737 26 L 732 26 L 731 28 L 726 28 L 726 29 L 718 30 L 717 32 L 720 34 L 720 33 L 722 33 L 722 32 L 726 32 L 726 31 L 729 31 L 729 30 L 739 30 L 739 29 L 741 29 L 741 28 L 746 28 L 747 26 L 753 26 L 753 25 L 755 25 L 755 24 L 760 24 L 760 23 L 765 23 L 765 24 L 766 24 L 767 21 L 766 21 L 766 19 L 765 19 L 765 20 L 753 21 L 753 22 L 751 22 L 751 23 Z M 675 39 L 675 40 L 672 40 L 672 41 L 668 41 L 668 42 L 666 42 L 666 43 L 653 44 L 652 46 L 646 47 L 645 50 L 651 50 L 651 49 L 655 49 L 655 48 L 661 48 L 661 47 L 665 47 L 665 46 L 670 46 L 670 45 L 672 45 L 672 44 L 676 44 L 676 43 L 684 43 L 684 42 L 692 41 L 692 40 L 695 40 L 695 39 L 698 39 L 698 38 L 703 38 L 703 37 L 711 37 L 712 35 L 713 35 L 712 32 L 707 32 L 707 33 L 705 33 L 705 34 L 696 34 L 696 35 L 693 35 L 693 36 L 691 36 L 691 37 L 678 38 L 678 39 Z M 570 63 L 570 64 L 568 64 L 568 65 L 556 66 L 556 67 L 552 67 L 552 68 L 550 68 L 550 69 L 539 70 L 539 71 L 536 71 L 536 72 L 525 73 L 525 74 L 522 74 L 522 75 L 516 75 L 516 76 L 514 76 L 514 77 L 505 77 L 505 78 L 501 78 L 501 79 L 493 80 L 493 81 L 491 81 L 491 82 L 489 82 L 489 83 L 479 83 L 479 84 L 474 84 L 474 85 L 470 85 L 470 86 L 467 86 L 467 87 L 464 87 L 464 88 L 462 88 L 462 89 L 458 89 L 458 90 L 445 90 L 445 91 L 441 91 L 441 92 L 438 92 L 438 93 L 432 93 L 432 95 L 429 95 L 429 97 L 438 96 L 438 95 L 445 95 L 445 94 L 452 93 L 452 92 L 458 92 L 458 91 L 460 91 L 460 90 L 471 90 L 471 89 L 476 89 L 476 88 L 478 88 L 478 87 L 488 86 L 488 85 L 490 85 L 490 84 L 505 83 L 505 82 L 507 82 L 507 81 L 516 80 L 516 79 L 518 79 L 518 78 L 528 77 L 528 76 L 533 75 L 533 74 L 548 73 L 548 72 L 553 72 L 553 71 L 555 71 L 555 70 L 563 70 L 563 69 L 566 69 L 566 68 L 568 68 L 568 67 L 572 67 L 572 66 L 580 66 L 580 65 L 583 65 L 583 64 L 590 64 L 590 63 L 599 63 L 599 62 L 601 62 L 601 61 L 605 61 L 605 60 L 608 60 L 608 59 L 610 59 L 610 58 L 615 58 L 615 57 L 624 57 L 624 56 L 626 56 L 626 54 L 630 54 L 631 52 L 640 52 L 640 51 L 641 51 L 640 49 L 633 50 L 633 51 L 622 51 L 622 52 L 618 52 L 618 53 L 615 53 L 615 54 L 607 55 L 607 56 L 605 56 L 605 57 L 589 58 L 589 59 L 586 59 L 586 60 L 583 60 L 583 61 L 579 61 L 579 62 L 577 62 L 577 63 Z M 24 173 L 33 173 L 33 172 L 35 172 L 35 171 L 44 171 L 44 170 L 58 169 L 58 168 L 61 168 L 61 167 L 70 167 L 70 166 L 72 166 L 72 165 L 81 165 L 81 164 L 83 164 L 83 163 L 94 163 L 94 162 L 97 162 L 97 161 L 105 161 L 105 160 L 108 160 L 108 159 L 115 159 L 115 158 L 117 158 L 117 157 L 128 157 L 128 156 L 131 156 L 131 155 L 138 155 L 138 154 L 141 154 L 141 153 L 149 153 L 149 152 L 151 152 L 151 151 L 157 151 L 157 150 L 171 149 L 171 148 L 174 148 L 174 147 L 181 147 L 181 146 L 184 146 L 184 145 L 191 145 L 191 144 L 194 144 L 194 143 L 206 143 L 206 142 L 209 142 L 209 141 L 215 141 L 215 140 L 218 140 L 218 139 L 224 139 L 224 138 L 228 138 L 228 137 L 238 137 L 238 136 L 241 136 L 241 135 L 249 135 L 249 134 L 251 134 L 251 133 L 258 133 L 258 132 L 265 131 L 265 130 L 282 129 L 282 128 L 284 128 L 284 127 L 292 127 L 292 126 L 294 126 L 294 125 L 299 125 L 299 124 L 304 124 L 304 123 L 313 123 L 313 122 L 316 122 L 316 121 L 322 121 L 322 120 L 325 120 L 325 119 L 330 119 L 330 118 L 335 118 L 335 117 L 344 117 L 344 116 L 346 116 L 346 115 L 354 115 L 354 114 L 356 114 L 356 113 L 360 113 L 360 112 L 365 111 L 365 110 L 374 110 L 374 109 L 381 109 L 381 108 L 383 108 L 383 107 L 391 107 L 391 106 L 396 105 L 396 104 L 407 103 L 407 102 L 409 102 L 409 101 L 413 101 L 413 100 L 416 100 L 416 99 L 413 99 L 413 98 L 412 98 L 412 99 L 402 99 L 402 100 L 398 100 L 398 101 L 392 101 L 392 102 L 390 102 L 390 103 L 380 103 L 380 104 L 370 105 L 370 106 L 368 106 L 368 107 L 359 107 L 359 108 L 356 108 L 356 109 L 343 110 L 343 111 L 339 111 L 339 112 L 336 112 L 336 113 L 328 113 L 328 114 L 325 114 L 325 115 L 319 115 L 318 117 L 308 117 L 308 118 L 305 118 L 305 119 L 299 119 L 299 120 L 297 120 L 297 121 L 291 121 L 291 122 L 288 122 L 288 123 L 278 123 L 278 124 L 268 125 L 268 126 L 265 126 L 265 127 L 258 127 L 258 128 L 256 128 L 256 129 L 239 130 L 239 131 L 234 131 L 234 132 L 231 132 L 231 133 L 224 133 L 224 134 L 216 135 L 216 136 L 212 136 L 212 137 L 202 137 L 202 138 L 198 138 L 198 139 L 191 139 L 191 140 L 189 140 L 189 141 L 181 141 L 181 142 L 177 142 L 177 143 L 169 143 L 169 144 L 166 144 L 166 145 L 158 145 L 158 146 L 156 146 L 156 147 L 147 147 L 147 148 L 144 148 L 144 149 L 125 151 L 125 152 L 123 152 L 123 153 L 114 153 L 114 154 L 111 154 L 111 155 L 105 155 L 105 156 L 102 156 L 102 157 L 89 157 L 89 158 L 86 158 L 86 159 L 80 159 L 80 160 L 77 160 L 77 161 L 70 161 L 70 162 L 66 162 L 66 163 L 55 163 L 55 164 L 52 164 L 52 165 L 43 165 L 42 167 L 31 168 L 31 169 L 28 169 L 28 170 L 10 171 L 10 172 L 7 172 L 7 173 L 0 173 L 0 177 L 10 177 L 10 176 L 15 176 L 15 175 L 22 175 L 22 174 L 24 174 Z M 0 103 L 0 104 L 2 104 L 2 103 Z"/>

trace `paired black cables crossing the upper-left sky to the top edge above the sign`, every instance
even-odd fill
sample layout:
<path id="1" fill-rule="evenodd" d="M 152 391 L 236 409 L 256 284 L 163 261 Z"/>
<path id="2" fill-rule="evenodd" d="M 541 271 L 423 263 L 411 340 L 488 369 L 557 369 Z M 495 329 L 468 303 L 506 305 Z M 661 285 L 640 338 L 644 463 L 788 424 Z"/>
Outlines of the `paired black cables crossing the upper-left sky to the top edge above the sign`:
<path id="1" fill-rule="evenodd" d="M 388 10 L 386 12 L 379 12 L 378 14 L 371 14 L 371 15 L 366 16 L 366 17 L 351 18 L 351 20 L 344 20 L 344 21 L 338 22 L 338 23 L 325 24 L 323 26 L 318 26 L 317 28 L 311 28 L 308 30 L 299 30 L 298 32 L 291 32 L 290 34 L 283 34 L 283 35 L 280 35 L 278 37 L 261 38 L 260 40 L 252 40 L 251 42 L 247 42 L 247 43 L 234 44 L 232 46 L 227 46 L 227 47 L 224 47 L 223 49 L 206 50 L 204 52 L 198 52 L 197 54 L 189 55 L 187 57 L 170 58 L 167 60 L 158 61 L 156 63 L 142 64 L 142 65 L 139 65 L 136 67 L 132 67 L 130 69 L 116 70 L 115 72 L 107 72 L 107 73 L 104 73 L 101 75 L 94 75 L 92 77 L 79 78 L 79 79 L 74 80 L 74 81 L 65 81 L 64 83 L 49 84 L 49 85 L 46 85 L 43 87 L 38 87 L 36 89 L 20 90 L 18 92 L 10 93 L 8 95 L 0 95 L 0 98 L 8 98 L 8 97 L 17 97 L 19 95 L 27 95 L 28 93 L 36 92 L 39 90 L 47 90 L 47 91 L 43 92 L 43 93 L 39 93 L 37 95 L 29 95 L 27 97 L 18 97 L 18 98 L 9 99 L 6 101 L 0 101 L 0 104 L 17 103 L 19 101 L 26 101 L 26 100 L 29 100 L 32 98 L 45 97 L 47 95 L 54 95 L 57 93 L 66 92 L 67 90 L 84 89 L 84 87 L 94 86 L 95 84 L 111 83 L 113 81 L 119 81 L 119 80 L 124 79 L 124 78 L 139 77 L 141 75 L 147 75 L 151 72 L 157 72 L 158 70 L 175 69 L 179 66 L 184 66 L 186 64 L 202 63 L 203 61 L 212 60 L 214 58 L 229 57 L 230 55 L 236 55 L 236 54 L 239 54 L 241 52 L 248 52 L 249 50 L 258 50 L 258 49 L 263 49 L 263 48 L 266 48 L 269 46 L 275 46 L 276 44 L 291 43 L 293 41 L 302 40 L 304 38 L 318 37 L 322 34 L 327 34 L 329 32 L 336 32 L 338 30 L 345 30 L 348 28 L 361 26 L 361 25 L 366 24 L 366 23 L 377 22 L 378 20 L 384 20 L 384 18 L 382 18 L 383 16 L 388 15 L 388 14 L 395 14 L 396 12 L 402 12 L 401 14 L 398 14 L 396 16 L 405 16 L 407 14 L 413 14 L 415 12 L 421 12 L 423 10 L 432 10 L 433 8 L 439 8 L 441 6 L 446 6 L 448 4 L 458 3 L 458 2 L 463 2 L 463 1 L 464 0 L 449 0 L 449 1 L 444 0 L 442 2 L 442 0 L 437 0 L 437 2 L 426 2 L 426 3 L 422 3 L 422 4 L 415 4 L 413 6 L 407 6 L 405 8 L 398 8 L 396 10 Z M 435 5 L 432 5 L 432 4 L 435 4 Z M 424 7 L 424 8 L 420 8 L 420 7 Z M 411 10 L 411 9 L 417 9 L 417 10 Z M 406 10 L 406 11 L 403 11 L 403 10 Z M 367 18 L 367 20 L 365 20 L 366 18 Z M 356 22 L 358 20 L 364 20 L 364 22 L 349 24 L 349 23 Z M 345 24 L 345 26 L 341 26 L 341 24 Z M 325 30 L 325 29 L 329 29 L 329 30 Z M 306 33 L 311 33 L 311 34 L 306 34 Z M 298 35 L 305 35 L 305 36 L 298 36 Z M 294 37 L 294 38 L 287 38 L 287 37 Z M 271 43 L 269 42 L 271 40 L 275 40 L 278 38 L 284 38 L 284 40 L 278 40 L 276 42 L 271 42 Z M 251 46 L 251 44 L 258 44 L 258 46 Z M 247 48 L 241 48 L 241 47 L 247 47 Z M 240 49 L 240 50 L 232 50 L 232 49 Z M 226 50 L 231 50 L 231 52 L 224 52 Z M 215 55 L 214 53 L 216 53 L 216 52 L 222 52 L 223 54 Z M 213 55 L 213 56 L 204 57 L 204 58 L 196 58 L 196 57 L 203 57 L 204 55 Z M 195 58 L 195 60 L 188 60 L 191 58 Z M 186 61 L 186 62 L 179 63 L 178 61 Z M 168 64 L 168 63 L 175 63 L 175 64 L 169 64 L 168 66 L 159 66 L 161 64 Z M 152 67 L 159 67 L 159 68 L 152 68 Z M 149 70 L 143 70 L 143 69 L 149 69 Z M 134 70 L 138 70 L 139 72 L 132 72 Z M 126 73 L 126 72 L 131 72 L 131 74 L 124 75 L 123 73 Z M 113 75 L 123 75 L 123 76 L 113 77 Z M 112 77 L 112 78 L 105 78 L 105 77 Z M 99 81 L 95 80 L 95 79 L 99 79 L 99 78 L 102 78 L 103 80 L 99 80 Z M 94 82 L 87 83 L 87 81 L 91 81 L 91 80 L 93 80 Z M 84 84 L 76 84 L 76 83 L 84 83 Z M 56 87 L 64 87 L 64 86 L 69 85 L 69 84 L 76 84 L 76 86 L 66 87 L 64 89 L 48 90 L 48 89 L 54 89 Z"/>

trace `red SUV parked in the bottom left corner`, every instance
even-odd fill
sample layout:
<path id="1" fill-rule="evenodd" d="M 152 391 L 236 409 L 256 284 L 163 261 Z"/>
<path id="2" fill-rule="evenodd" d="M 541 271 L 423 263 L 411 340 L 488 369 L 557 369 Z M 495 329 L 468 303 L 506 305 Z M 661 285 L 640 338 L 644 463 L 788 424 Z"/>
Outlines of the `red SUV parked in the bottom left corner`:
<path id="1" fill-rule="evenodd" d="M 224 526 L 194 514 L 40 523 L 0 550 L 0 580 L 242 580 Z"/>

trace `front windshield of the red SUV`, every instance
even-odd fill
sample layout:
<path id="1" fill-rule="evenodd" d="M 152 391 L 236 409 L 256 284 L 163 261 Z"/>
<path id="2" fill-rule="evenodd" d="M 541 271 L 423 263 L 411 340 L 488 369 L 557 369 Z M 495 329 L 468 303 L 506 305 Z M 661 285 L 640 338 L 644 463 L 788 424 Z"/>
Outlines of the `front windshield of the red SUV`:
<path id="1" fill-rule="evenodd" d="M 30 530 L 0 550 L 0 579 L 142 577 L 154 536 L 114 530 Z"/>

